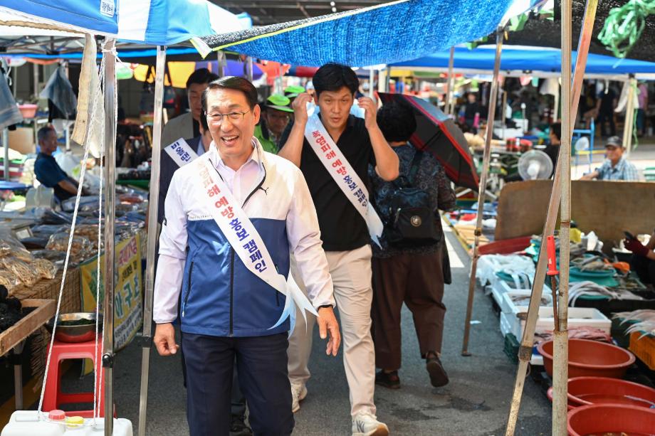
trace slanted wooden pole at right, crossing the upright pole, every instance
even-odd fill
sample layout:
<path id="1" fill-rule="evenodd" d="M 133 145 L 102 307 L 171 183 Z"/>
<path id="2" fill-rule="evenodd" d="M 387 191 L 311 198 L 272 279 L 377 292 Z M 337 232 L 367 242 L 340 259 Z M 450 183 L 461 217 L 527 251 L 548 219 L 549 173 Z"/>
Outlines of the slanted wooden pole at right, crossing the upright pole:
<path id="1" fill-rule="evenodd" d="M 587 65 L 587 56 L 589 54 L 589 42 L 591 41 L 597 4 L 598 4 L 598 0 L 587 0 L 587 8 L 585 9 L 585 21 L 582 25 L 580 42 L 577 48 L 577 60 L 575 63 L 575 73 L 572 83 L 572 98 L 570 98 L 570 114 L 574 114 L 574 115 L 577 114 L 580 90 L 582 89 L 582 79 L 584 78 L 585 68 Z M 570 51 L 570 45 L 569 45 L 569 51 Z M 568 70 L 570 71 L 570 65 Z M 564 66 L 562 65 L 562 75 L 563 73 L 564 73 Z M 569 78 L 570 78 L 570 73 L 569 73 Z M 573 122 L 575 122 L 575 117 L 571 117 L 571 118 L 572 118 L 572 122 L 570 122 L 569 128 L 565 131 L 565 134 L 562 134 L 562 139 L 567 138 L 569 149 L 565 150 L 562 146 L 560 146 L 560 152 L 557 158 L 557 165 L 555 166 L 555 175 L 553 176 L 553 181 L 552 181 L 550 203 L 548 204 L 548 212 L 546 215 L 546 220 L 543 229 L 543 240 L 545 240 L 547 235 L 552 235 L 552 233 L 555 231 L 555 222 L 557 221 L 557 208 L 559 208 L 560 206 L 560 196 L 562 194 L 561 191 L 562 171 L 563 171 L 562 166 L 564 165 L 564 161 L 570 162 L 570 141 L 572 137 L 572 125 Z M 567 125 L 564 123 L 562 124 L 565 127 Z M 532 358 L 535 326 L 537 324 L 537 318 L 539 315 L 539 305 L 540 305 L 541 293 L 543 291 L 543 283 L 544 283 L 543 278 L 545 277 L 546 267 L 547 267 L 546 244 L 542 244 L 539 252 L 537 267 L 535 270 L 535 279 L 533 280 L 533 289 L 532 289 L 532 295 L 530 297 L 530 304 L 528 306 L 528 319 L 525 321 L 525 329 L 523 329 L 523 339 L 521 341 L 521 345 L 518 351 L 519 363 L 518 363 L 518 369 L 516 371 L 514 393 L 513 393 L 510 411 L 508 415 L 507 427 L 505 428 L 505 436 L 514 435 L 514 431 L 516 427 L 516 420 L 518 418 L 518 410 L 520 408 L 521 395 L 523 395 L 523 384 L 525 381 L 525 374 L 528 369 L 528 363 L 530 363 L 530 359 Z M 567 306 L 567 304 L 568 302 L 565 302 L 564 305 Z M 553 407 L 554 406 L 555 405 L 553 405 Z M 566 422 L 566 418 L 564 419 L 564 422 Z M 554 421 L 553 424 L 555 424 Z M 566 423 L 564 425 L 566 425 Z"/>

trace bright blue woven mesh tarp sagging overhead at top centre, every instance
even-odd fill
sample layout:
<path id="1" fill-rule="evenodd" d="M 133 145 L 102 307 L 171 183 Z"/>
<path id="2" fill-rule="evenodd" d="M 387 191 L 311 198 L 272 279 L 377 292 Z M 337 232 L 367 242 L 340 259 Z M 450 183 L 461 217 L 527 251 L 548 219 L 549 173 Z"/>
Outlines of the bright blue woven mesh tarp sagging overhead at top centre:
<path id="1" fill-rule="evenodd" d="M 491 33 L 540 0 L 400 0 L 355 11 L 194 38 L 201 53 L 227 49 L 292 65 L 365 66 L 419 58 Z"/>

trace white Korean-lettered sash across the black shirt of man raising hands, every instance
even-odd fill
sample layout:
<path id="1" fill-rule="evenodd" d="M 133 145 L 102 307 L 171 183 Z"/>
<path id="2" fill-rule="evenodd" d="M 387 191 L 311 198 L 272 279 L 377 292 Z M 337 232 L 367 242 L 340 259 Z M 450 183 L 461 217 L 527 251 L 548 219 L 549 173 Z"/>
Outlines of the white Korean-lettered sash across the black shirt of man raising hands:
<path id="1" fill-rule="evenodd" d="M 305 138 L 337 186 L 366 221 L 373 242 L 379 245 L 378 238 L 382 235 L 384 225 L 371 205 L 368 190 L 334 139 L 327 133 L 317 113 L 313 113 L 307 121 Z"/>

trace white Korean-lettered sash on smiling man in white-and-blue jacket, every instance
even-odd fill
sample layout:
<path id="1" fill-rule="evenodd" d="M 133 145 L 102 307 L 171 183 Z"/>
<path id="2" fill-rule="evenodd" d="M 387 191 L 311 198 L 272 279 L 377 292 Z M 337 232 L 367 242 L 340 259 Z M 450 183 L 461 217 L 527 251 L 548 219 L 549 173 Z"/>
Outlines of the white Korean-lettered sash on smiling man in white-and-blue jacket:
<path id="1" fill-rule="evenodd" d="M 260 152 L 258 147 L 255 148 L 254 152 Z M 271 329 L 279 326 L 285 319 L 290 317 L 291 330 L 293 331 L 296 305 L 300 307 L 303 318 L 306 319 L 305 310 L 318 316 L 308 298 L 298 288 L 291 274 L 289 273 L 287 279 L 277 272 L 273 258 L 266 245 L 264 245 L 261 235 L 239 206 L 239 203 L 234 200 L 234 196 L 216 173 L 216 170 L 212 168 L 209 159 L 198 159 L 196 165 L 198 166 L 197 174 L 200 184 L 197 187 L 199 191 L 197 198 L 204 203 L 206 211 L 219 225 L 236 255 L 239 256 L 241 262 L 246 265 L 250 272 L 286 296 L 282 316 L 275 325 L 271 326 Z"/>

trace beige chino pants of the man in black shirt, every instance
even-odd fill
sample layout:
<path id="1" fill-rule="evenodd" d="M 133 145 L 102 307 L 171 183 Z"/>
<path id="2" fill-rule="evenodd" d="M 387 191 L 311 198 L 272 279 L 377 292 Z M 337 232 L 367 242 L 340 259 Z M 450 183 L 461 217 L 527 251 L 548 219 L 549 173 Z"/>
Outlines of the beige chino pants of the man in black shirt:
<path id="1" fill-rule="evenodd" d="M 350 251 L 326 251 L 327 264 L 335 287 L 335 300 L 340 315 L 343 341 L 343 366 L 350 388 L 350 413 L 365 412 L 375 415 L 375 351 L 371 337 L 371 247 Z M 299 279 L 297 266 L 292 259 L 291 274 L 300 289 L 305 286 Z M 289 339 L 287 351 L 291 383 L 306 383 L 310 378 L 307 367 L 312 349 L 312 332 L 315 317 L 308 315 L 305 330 L 303 316 L 295 317 L 295 329 Z"/>

